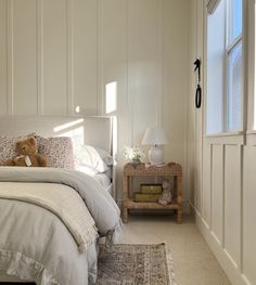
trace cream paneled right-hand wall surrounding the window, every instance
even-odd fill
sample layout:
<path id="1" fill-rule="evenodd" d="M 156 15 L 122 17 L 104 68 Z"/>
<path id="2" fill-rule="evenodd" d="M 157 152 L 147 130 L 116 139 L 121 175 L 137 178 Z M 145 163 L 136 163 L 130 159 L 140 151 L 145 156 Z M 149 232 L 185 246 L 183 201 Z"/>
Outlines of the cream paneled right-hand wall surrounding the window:
<path id="1" fill-rule="evenodd" d="M 192 0 L 190 4 L 190 56 L 191 60 L 203 60 L 203 85 L 206 83 L 206 2 Z M 248 53 L 254 47 L 253 2 L 245 1 L 244 131 L 207 137 L 203 120 L 206 109 L 191 107 L 189 111 L 191 205 L 201 233 L 234 285 L 256 284 L 256 134 L 251 109 L 254 105 L 254 90 L 251 88 L 254 60 Z M 253 5 L 248 8 L 249 4 Z M 192 69 L 190 80 L 189 101 L 193 102 L 195 82 Z M 204 86 L 204 101 L 206 96 Z"/>

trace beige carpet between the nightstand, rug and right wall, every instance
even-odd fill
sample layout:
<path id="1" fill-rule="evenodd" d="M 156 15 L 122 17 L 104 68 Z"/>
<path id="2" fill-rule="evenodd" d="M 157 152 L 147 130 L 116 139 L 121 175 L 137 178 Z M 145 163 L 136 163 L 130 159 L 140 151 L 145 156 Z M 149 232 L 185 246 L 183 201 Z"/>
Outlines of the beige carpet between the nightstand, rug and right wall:
<path id="1" fill-rule="evenodd" d="M 172 254 L 179 285 L 230 285 L 191 217 L 177 224 L 171 215 L 130 215 L 129 222 L 124 224 L 123 243 L 163 242 Z"/>

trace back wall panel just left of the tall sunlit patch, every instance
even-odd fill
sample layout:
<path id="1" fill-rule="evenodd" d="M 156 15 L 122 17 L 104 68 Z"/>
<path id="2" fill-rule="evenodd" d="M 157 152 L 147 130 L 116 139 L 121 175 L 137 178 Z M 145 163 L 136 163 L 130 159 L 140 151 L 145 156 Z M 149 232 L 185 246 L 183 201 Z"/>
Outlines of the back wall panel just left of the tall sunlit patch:
<path id="1" fill-rule="evenodd" d="M 73 1 L 74 102 L 86 115 L 97 115 L 98 1 Z"/>

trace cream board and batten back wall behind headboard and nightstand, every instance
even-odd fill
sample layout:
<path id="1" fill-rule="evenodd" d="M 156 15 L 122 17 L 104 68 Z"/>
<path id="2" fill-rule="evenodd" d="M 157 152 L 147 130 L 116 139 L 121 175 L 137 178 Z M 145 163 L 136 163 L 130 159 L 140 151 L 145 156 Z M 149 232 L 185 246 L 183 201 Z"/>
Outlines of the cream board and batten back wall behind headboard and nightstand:
<path id="1" fill-rule="evenodd" d="M 115 82 L 118 192 L 123 146 L 163 126 L 188 200 L 188 15 L 189 0 L 0 0 L 0 115 L 105 115 Z"/>

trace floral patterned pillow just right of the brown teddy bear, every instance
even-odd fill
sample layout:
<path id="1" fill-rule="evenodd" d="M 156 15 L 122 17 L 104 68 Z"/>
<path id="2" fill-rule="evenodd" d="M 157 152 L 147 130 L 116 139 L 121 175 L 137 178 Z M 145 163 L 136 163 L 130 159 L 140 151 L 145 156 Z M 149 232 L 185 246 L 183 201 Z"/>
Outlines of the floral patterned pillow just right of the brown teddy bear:
<path id="1" fill-rule="evenodd" d="M 48 158 L 50 167 L 74 169 L 74 153 L 72 139 L 68 137 L 56 137 L 44 139 L 36 135 L 38 152 Z"/>

